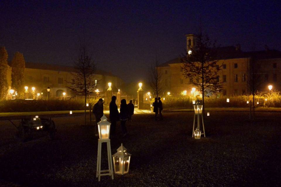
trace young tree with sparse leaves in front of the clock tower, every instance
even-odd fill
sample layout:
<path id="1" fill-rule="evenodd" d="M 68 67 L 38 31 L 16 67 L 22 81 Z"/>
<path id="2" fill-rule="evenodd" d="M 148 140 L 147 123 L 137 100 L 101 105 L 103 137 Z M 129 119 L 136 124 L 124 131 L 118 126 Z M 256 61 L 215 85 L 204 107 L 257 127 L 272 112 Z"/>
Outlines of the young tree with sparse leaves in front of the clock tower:
<path id="1" fill-rule="evenodd" d="M 184 75 L 192 80 L 192 84 L 202 93 L 204 110 L 204 96 L 207 93 L 217 93 L 222 89 L 222 83 L 217 81 L 220 66 L 217 65 L 217 47 L 208 36 L 200 33 L 196 44 L 190 49 L 191 53 L 182 58 Z"/>

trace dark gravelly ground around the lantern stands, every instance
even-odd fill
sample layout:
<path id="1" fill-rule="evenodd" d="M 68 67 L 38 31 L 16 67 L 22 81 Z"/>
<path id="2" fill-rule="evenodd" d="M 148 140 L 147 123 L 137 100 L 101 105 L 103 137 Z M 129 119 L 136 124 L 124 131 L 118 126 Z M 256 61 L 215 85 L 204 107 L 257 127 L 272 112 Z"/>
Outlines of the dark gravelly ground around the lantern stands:
<path id="1" fill-rule="evenodd" d="M 193 112 L 163 115 L 162 121 L 133 115 L 125 138 L 117 123 L 112 154 L 123 143 L 132 154 L 130 170 L 100 182 L 97 137 L 93 126 L 82 125 L 83 115 L 53 118 L 53 141 L 38 134 L 21 143 L 16 128 L 0 121 L 0 186 L 281 186 L 280 113 L 257 112 L 250 122 L 247 112 L 210 112 L 200 140 L 191 137 Z"/>

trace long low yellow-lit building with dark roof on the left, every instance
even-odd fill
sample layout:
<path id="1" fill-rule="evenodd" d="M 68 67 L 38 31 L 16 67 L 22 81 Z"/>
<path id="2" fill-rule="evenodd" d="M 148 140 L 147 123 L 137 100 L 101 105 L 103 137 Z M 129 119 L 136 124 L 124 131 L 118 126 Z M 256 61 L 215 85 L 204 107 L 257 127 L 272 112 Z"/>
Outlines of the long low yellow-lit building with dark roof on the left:
<path id="1" fill-rule="evenodd" d="M 43 96 L 47 96 L 47 88 L 50 88 L 50 96 L 52 98 L 62 97 L 62 93 L 65 92 L 66 96 L 75 95 L 68 87 L 70 86 L 73 74 L 75 72 L 74 67 L 51 65 L 43 63 L 25 63 L 25 86 L 28 86 L 28 92 L 32 92 L 31 88 L 35 87 L 36 93 L 43 93 Z M 11 67 L 7 70 L 7 80 L 9 89 L 11 89 Z M 112 88 L 117 90 L 123 80 L 111 73 L 104 71 L 96 71 L 95 74 L 96 89 L 100 92 L 104 92 L 108 88 L 108 82 L 112 83 Z"/>

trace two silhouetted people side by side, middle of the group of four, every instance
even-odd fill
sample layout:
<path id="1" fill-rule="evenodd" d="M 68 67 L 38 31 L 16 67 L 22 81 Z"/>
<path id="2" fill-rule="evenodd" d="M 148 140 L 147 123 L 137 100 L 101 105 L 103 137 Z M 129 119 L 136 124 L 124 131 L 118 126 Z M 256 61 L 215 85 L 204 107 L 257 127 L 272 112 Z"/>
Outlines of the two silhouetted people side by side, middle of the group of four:
<path id="1" fill-rule="evenodd" d="M 120 120 L 122 134 L 123 137 L 125 137 L 128 134 L 126 128 L 126 121 L 129 118 L 129 108 L 126 103 L 126 99 L 121 100 L 120 113 L 119 113 L 116 105 L 116 96 L 112 96 L 111 102 L 109 103 L 109 118 L 111 121 L 110 135 L 115 136 L 116 122 Z"/>

